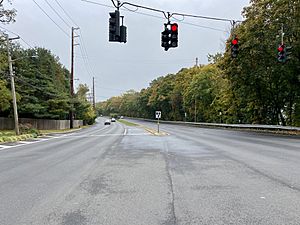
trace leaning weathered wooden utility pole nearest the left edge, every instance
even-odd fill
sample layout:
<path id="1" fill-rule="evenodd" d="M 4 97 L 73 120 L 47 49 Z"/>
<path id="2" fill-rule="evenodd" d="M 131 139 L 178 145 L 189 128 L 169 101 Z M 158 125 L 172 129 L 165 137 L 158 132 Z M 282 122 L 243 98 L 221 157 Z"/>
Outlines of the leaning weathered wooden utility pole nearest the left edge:
<path id="1" fill-rule="evenodd" d="M 13 109 L 14 109 L 14 120 L 15 120 L 15 131 L 16 135 L 20 134 L 19 130 L 19 118 L 18 118 L 18 108 L 17 108 L 17 98 L 16 98 L 16 89 L 15 89 L 15 78 L 14 78 L 14 71 L 12 67 L 12 59 L 10 54 L 10 40 L 16 40 L 17 38 L 9 38 L 8 35 L 6 35 L 6 41 L 7 41 L 7 56 L 8 56 L 8 64 L 9 64 L 9 75 L 10 75 L 10 81 L 11 81 L 11 93 L 12 93 L 12 99 L 13 99 Z"/>

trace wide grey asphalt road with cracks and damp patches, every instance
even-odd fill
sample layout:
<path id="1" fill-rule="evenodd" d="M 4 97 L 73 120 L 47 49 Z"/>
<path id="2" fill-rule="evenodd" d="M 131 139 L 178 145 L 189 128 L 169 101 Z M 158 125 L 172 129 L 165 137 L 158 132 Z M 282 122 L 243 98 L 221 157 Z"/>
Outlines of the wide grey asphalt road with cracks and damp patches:
<path id="1" fill-rule="evenodd" d="M 0 145 L 1 225 L 300 224 L 299 138 L 103 120 Z"/>

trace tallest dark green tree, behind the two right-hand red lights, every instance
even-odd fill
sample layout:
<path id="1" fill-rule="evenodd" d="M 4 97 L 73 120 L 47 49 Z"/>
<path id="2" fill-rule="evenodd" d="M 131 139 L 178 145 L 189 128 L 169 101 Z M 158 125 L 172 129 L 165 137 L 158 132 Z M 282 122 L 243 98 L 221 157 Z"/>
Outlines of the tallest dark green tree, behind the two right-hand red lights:
<path id="1" fill-rule="evenodd" d="M 248 123 L 296 124 L 299 51 L 283 64 L 277 62 L 276 49 L 283 24 L 286 45 L 299 50 L 299 1 L 253 0 L 243 15 L 245 22 L 233 31 L 240 40 L 239 55 L 233 60 L 227 51 L 221 66 L 237 104 L 235 116 Z"/>

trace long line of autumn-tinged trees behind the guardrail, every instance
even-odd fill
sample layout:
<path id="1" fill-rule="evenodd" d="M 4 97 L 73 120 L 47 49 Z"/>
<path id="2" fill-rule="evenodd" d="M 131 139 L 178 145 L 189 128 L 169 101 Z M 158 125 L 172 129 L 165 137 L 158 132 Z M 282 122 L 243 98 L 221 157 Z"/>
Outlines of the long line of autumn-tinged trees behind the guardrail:
<path id="1" fill-rule="evenodd" d="M 299 0 L 252 0 L 245 20 L 232 30 L 225 53 L 209 55 L 209 64 L 181 69 L 153 80 L 141 91 L 130 90 L 97 104 L 111 113 L 165 120 L 300 126 Z M 286 63 L 277 47 L 292 47 Z M 239 38 L 233 59 L 230 42 Z"/>

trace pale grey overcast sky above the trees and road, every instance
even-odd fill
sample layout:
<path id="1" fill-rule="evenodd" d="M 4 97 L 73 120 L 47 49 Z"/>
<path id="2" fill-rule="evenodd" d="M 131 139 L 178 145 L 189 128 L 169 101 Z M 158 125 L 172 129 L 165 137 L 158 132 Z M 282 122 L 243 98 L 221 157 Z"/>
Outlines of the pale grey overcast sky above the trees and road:
<path id="1" fill-rule="evenodd" d="M 58 26 L 34 3 L 57 23 Z M 71 16 L 71 21 L 57 2 Z M 121 9 L 127 26 L 127 43 L 108 42 L 109 12 L 113 11 L 111 0 L 90 0 L 106 6 L 82 0 L 13 0 L 17 10 L 14 24 L 2 25 L 19 34 L 30 46 L 50 49 L 70 68 L 71 27 L 78 25 L 80 46 L 75 47 L 75 82 L 92 84 L 96 80 L 96 100 L 102 101 L 124 93 L 139 91 L 149 83 L 181 68 L 207 63 L 207 55 L 224 51 L 224 42 L 230 30 L 229 22 L 182 18 L 179 24 L 179 47 L 164 51 L 161 32 L 166 19 L 163 14 L 139 9 L 136 12 Z M 68 25 L 53 11 L 54 8 Z M 249 0 L 128 0 L 130 3 L 162 9 L 169 12 L 221 17 L 242 20 L 241 11 Z M 7 3 L 6 3 L 7 5 Z M 136 10 L 134 7 L 127 7 Z M 142 15 L 149 14 L 149 15 Z M 175 21 L 173 19 L 173 21 Z M 76 24 L 74 24 L 74 22 Z M 197 26 L 195 26 L 197 25 Z M 66 34 L 67 33 L 67 34 Z M 22 46 L 28 45 L 21 41 Z"/>

